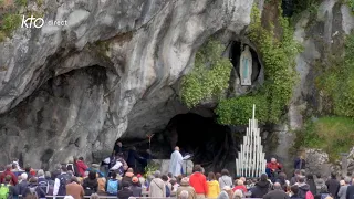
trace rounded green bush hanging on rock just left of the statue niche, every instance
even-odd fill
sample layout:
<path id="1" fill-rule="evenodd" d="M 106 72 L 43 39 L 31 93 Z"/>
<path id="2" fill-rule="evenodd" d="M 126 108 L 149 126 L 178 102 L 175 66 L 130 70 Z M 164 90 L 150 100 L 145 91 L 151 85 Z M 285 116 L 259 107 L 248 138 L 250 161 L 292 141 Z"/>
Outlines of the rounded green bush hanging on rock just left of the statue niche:
<path id="1" fill-rule="evenodd" d="M 181 84 L 181 101 L 189 108 L 228 88 L 232 64 L 221 56 L 223 50 L 221 43 L 210 40 L 197 52 L 195 67 Z"/>

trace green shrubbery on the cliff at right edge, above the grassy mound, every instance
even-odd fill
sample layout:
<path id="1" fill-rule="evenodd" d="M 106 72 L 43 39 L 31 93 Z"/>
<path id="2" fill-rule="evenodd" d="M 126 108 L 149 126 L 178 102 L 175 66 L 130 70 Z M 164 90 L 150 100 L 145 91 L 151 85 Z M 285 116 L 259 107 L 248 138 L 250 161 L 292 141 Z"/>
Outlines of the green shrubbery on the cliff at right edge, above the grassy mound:
<path id="1" fill-rule="evenodd" d="M 316 78 L 316 85 L 331 102 L 329 113 L 354 117 L 354 34 L 346 36 L 344 43 L 345 55 L 330 56 L 330 64 Z"/>

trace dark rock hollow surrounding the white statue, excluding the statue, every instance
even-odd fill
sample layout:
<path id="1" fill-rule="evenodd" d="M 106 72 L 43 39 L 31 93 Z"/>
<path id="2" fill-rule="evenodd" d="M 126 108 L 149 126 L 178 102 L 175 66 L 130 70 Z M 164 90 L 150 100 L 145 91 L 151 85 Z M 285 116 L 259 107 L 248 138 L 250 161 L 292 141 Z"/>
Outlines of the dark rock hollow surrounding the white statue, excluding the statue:
<path id="1" fill-rule="evenodd" d="M 244 46 L 247 44 L 241 43 L 240 41 L 233 41 L 231 43 L 230 52 L 229 52 L 229 57 L 230 61 L 235 67 L 235 71 L 237 72 L 237 75 L 240 76 L 240 57 L 241 53 L 244 50 Z M 261 63 L 258 57 L 257 51 L 250 46 L 250 52 L 252 54 L 252 75 L 251 75 L 251 82 L 252 84 L 258 80 L 261 71 Z"/>

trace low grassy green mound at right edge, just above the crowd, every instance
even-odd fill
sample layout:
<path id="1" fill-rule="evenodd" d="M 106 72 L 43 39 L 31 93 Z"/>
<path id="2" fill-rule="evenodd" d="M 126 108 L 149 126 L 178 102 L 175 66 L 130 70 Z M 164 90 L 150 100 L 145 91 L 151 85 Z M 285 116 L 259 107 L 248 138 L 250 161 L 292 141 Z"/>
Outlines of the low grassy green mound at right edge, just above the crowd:
<path id="1" fill-rule="evenodd" d="M 305 123 L 303 130 L 298 132 L 295 147 L 323 149 L 330 160 L 347 153 L 354 145 L 354 119 L 350 117 L 322 117 Z"/>

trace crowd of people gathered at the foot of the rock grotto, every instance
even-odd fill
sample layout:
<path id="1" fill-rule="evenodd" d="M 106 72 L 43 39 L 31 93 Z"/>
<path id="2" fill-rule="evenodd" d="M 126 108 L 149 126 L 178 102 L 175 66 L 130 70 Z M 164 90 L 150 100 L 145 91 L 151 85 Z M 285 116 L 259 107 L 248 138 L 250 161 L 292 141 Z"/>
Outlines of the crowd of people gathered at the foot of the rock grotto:
<path id="1" fill-rule="evenodd" d="M 252 179 L 235 178 L 227 169 L 206 172 L 200 165 L 195 165 L 192 174 L 187 176 L 178 147 L 171 154 L 168 174 L 156 170 L 145 177 L 131 167 L 133 161 L 128 164 L 124 158 L 122 144 L 117 144 L 113 154 L 102 165 L 88 167 L 80 157 L 70 164 L 58 165 L 53 171 L 34 170 L 30 166 L 22 170 L 13 161 L 0 175 L 0 199 L 82 199 L 84 196 L 132 199 L 145 195 L 177 199 L 354 199 L 351 174 L 342 180 L 335 174 L 329 179 L 306 174 L 301 157 L 295 159 L 295 171 L 290 178 L 282 171 L 282 165 L 272 158 L 266 174 Z"/>

